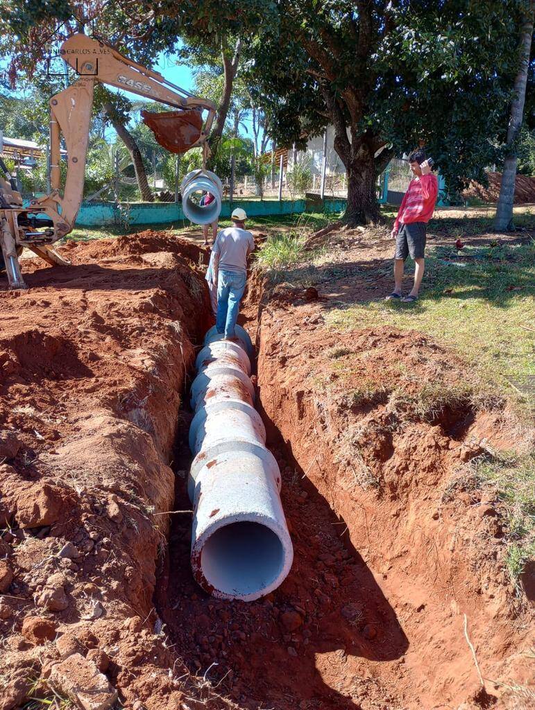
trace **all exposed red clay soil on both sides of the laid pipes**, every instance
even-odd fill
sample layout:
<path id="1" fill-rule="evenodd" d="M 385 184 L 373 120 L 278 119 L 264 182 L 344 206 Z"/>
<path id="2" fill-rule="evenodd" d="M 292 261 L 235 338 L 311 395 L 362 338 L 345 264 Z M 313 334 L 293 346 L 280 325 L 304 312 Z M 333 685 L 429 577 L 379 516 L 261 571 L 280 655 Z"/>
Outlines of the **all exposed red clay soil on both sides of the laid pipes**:
<path id="1" fill-rule="evenodd" d="M 463 485 L 472 457 L 520 435 L 507 412 L 462 401 L 411 414 L 415 373 L 465 376 L 429 339 L 325 329 L 355 283 L 387 288 L 391 241 L 370 243 L 340 256 L 319 300 L 252 283 L 244 322 L 259 326 L 259 406 L 295 547 L 286 581 L 254 603 L 212 599 L 190 571 L 179 406 L 210 324 L 206 253 L 146 232 L 70 246 L 70 268 L 24 262 L 31 290 L 0 293 L 1 710 L 35 697 L 34 678 L 65 694 L 80 668 L 132 710 L 528 707 L 497 684 L 529 682 L 500 511 Z M 167 547 L 173 486 L 185 512 Z"/>

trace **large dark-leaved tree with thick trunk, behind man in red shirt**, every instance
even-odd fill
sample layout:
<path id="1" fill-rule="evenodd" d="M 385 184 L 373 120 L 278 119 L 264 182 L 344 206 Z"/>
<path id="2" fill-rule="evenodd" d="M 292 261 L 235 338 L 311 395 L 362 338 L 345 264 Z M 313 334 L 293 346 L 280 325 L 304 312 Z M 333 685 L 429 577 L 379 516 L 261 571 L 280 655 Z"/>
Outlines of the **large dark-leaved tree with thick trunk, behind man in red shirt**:
<path id="1" fill-rule="evenodd" d="M 377 219 L 374 182 L 394 153 L 423 144 L 451 187 L 481 179 L 504 141 L 524 4 L 281 0 L 250 66 L 278 143 L 334 126 L 353 222 Z"/>

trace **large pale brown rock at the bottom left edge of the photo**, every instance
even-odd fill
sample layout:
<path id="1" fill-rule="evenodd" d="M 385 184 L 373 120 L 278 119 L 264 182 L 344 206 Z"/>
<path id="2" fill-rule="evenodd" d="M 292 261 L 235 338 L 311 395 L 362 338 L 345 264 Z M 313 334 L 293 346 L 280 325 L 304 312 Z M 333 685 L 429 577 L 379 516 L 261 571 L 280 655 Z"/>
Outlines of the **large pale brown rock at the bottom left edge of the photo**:
<path id="1" fill-rule="evenodd" d="M 67 694 L 84 710 L 108 710 L 117 701 L 117 690 L 91 660 L 75 653 L 53 666 L 51 687 Z"/>

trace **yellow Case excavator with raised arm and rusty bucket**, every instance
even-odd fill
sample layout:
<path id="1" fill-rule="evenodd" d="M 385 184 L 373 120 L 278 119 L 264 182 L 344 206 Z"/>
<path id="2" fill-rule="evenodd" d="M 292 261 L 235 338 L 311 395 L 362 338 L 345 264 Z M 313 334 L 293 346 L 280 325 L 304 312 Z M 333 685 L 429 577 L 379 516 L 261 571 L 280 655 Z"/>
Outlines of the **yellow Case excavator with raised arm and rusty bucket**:
<path id="1" fill-rule="evenodd" d="M 215 116 L 212 102 L 195 97 L 158 72 L 84 34 L 65 40 L 60 55 L 75 70 L 77 80 L 50 99 L 50 195 L 36 197 L 23 206 L 15 181 L 3 161 L 0 163 L 5 175 L 5 179 L 0 177 L 0 271 L 4 266 L 10 289 L 28 288 L 18 263 L 25 246 L 52 266 L 70 263 L 50 245 L 72 230 L 82 202 L 95 82 L 111 84 L 173 107 L 174 111 L 162 113 L 142 111 L 143 120 L 158 143 L 173 153 L 205 146 L 207 154 L 205 141 Z M 206 119 L 203 111 L 208 111 Z M 63 195 L 60 193 L 62 133 L 67 150 Z"/>

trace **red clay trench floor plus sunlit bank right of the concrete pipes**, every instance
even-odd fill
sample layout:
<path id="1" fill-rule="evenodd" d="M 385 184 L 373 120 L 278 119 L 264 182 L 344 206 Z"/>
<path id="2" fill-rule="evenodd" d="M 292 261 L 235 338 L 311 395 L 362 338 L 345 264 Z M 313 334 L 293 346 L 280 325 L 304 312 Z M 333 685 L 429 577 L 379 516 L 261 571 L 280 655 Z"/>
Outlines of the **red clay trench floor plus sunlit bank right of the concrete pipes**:
<path id="1" fill-rule="evenodd" d="M 444 387 L 466 375 L 431 340 L 396 329 L 340 336 L 323 327 L 331 302 L 387 288 L 390 268 L 378 257 L 391 244 L 376 236 L 368 249 L 362 238 L 319 294 L 288 285 L 270 291 L 258 280 L 249 291 L 242 322 L 253 336 L 258 326 L 259 408 L 283 474 L 295 552 L 286 581 L 254 603 L 211 599 L 183 574 L 190 515 L 173 518 L 158 612 L 190 670 L 240 707 L 529 706 L 499 685 L 530 681 L 527 601 L 504 571 L 499 507 L 465 481 L 484 447 L 524 440 L 507 412 L 472 411 L 463 400 L 427 420 L 411 414 L 421 389 L 416 371 Z M 362 383 L 373 393 L 358 404 L 350 393 Z M 399 388 L 405 402 L 391 397 Z M 185 437 L 175 461 L 184 477 L 176 503 L 187 510 Z M 495 681 L 485 691 L 464 613 L 483 674 Z"/>

